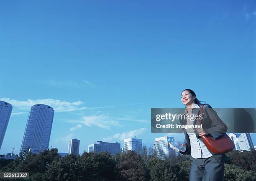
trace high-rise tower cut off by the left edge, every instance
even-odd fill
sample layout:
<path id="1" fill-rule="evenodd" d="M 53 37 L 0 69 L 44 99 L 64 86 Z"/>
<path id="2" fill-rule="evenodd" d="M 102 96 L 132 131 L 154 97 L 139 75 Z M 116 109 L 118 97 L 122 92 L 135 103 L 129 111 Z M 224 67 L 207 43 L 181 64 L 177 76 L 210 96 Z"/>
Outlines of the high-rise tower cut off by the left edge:
<path id="1" fill-rule="evenodd" d="M 5 137 L 5 131 L 9 123 L 12 109 L 13 107 L 11 104 L 5 101 L 0 101 L 0 150 L 3 143 L 3 138 Z"/>

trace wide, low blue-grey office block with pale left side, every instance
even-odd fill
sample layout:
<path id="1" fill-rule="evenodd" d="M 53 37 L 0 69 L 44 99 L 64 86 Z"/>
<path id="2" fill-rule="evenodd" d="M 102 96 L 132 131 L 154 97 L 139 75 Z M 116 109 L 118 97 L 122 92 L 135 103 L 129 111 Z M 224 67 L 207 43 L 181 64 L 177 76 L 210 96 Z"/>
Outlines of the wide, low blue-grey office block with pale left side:
<path id="1" fill-rule="evenodd" d="M 103 151 L 107 151 L 111 155 L 115 155 L 116 153 L 120 153 L 121 146 L 120 143 L 108 143 L 97 141 L 97 143 L 90 144 L 88 146 L 88 152 L 100 153 Z"/>

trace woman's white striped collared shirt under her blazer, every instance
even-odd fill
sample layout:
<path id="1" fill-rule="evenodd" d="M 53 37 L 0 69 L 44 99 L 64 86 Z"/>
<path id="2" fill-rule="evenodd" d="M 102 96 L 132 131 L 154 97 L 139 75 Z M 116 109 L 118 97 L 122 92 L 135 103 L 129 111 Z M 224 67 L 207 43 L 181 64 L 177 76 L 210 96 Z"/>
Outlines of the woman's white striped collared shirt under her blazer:
<path id="1" fill-rule="evenodd" d="M 194 104 L 193 108 L 200 108 L 197 104 Z M 187 119 L 187 125 L 193 125 L 194 121 Z M 197 138 L 194 129 L 187 129 L 187 134 L 190 140 L 191 156 L 193 158 L 209 158 L 212 153 L 205 146 L 205 143 Z"/>

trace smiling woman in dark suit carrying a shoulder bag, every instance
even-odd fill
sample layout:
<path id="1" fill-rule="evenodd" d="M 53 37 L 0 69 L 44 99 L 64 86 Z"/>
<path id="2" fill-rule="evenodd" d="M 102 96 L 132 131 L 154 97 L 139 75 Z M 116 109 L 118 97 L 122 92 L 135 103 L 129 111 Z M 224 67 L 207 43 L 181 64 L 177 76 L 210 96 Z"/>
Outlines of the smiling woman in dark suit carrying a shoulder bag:
<path id="1" fill-rule="evenodd" d="M 185 89 L 181 94 L 181 101 L 186 106 L 185 115 L 200 115 L 202 102 L 191 89 Z M 187 117 L 187 116 L 186 116 Z M 182 125 L 196 125 L 199 119 L 190 121 L 180 119 Z M 227 131 L 227 126 L 210 105 L 203 107 L 202 128 L 183 129 L 185 134 L 184 146 L 186 151 L 182 154 L 190 155 L 192 160 L 189 181 L 223 181 L 225 154 L 211 153 L 202 141 L 201 136 L 210 135 L 216 139 Z"/>

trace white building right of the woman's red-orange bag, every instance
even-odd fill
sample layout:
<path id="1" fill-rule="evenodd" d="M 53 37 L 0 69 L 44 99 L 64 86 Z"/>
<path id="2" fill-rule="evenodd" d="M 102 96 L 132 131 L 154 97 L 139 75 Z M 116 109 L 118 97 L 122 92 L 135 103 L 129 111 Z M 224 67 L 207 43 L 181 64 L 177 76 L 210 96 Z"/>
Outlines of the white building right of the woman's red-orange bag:
<path id="1" fill-rule="evenodd" d="M 236 150 L 250 151 L 251 149 L 252 150 L 254 149 L 250 133 L 241 133 L 241 134 L 230 133 L 228 136 L 235 144 Z"/>

